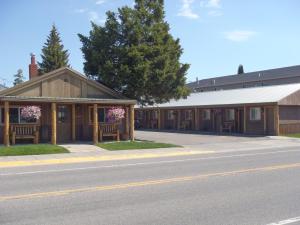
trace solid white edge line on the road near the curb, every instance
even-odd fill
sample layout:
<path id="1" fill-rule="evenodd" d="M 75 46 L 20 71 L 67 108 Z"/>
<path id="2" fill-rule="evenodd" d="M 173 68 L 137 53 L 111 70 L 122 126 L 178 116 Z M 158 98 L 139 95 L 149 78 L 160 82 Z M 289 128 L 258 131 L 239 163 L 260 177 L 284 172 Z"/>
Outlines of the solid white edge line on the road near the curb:
<path id="1" fill-rule="evenodd" d="M 67 171 L 80 171 L 80 170 L 92 170 L 92 169 L 131 167 L 131 166 L 156 165 L 156 164 L 171 164 L 171 163 L 178 163 L 178 162 L 212 160 L 212 159 L 225 159 L 225 158 L 238 158 L 238 157 L 248 157 L 248 156 L 257 156 L 257 155 L 271 155 L 271 154 L 289 153 L 289 152 L 299 152 L 299 150 L 294 149 L 294 150 L 282 150 L 282 151 L 273 151 L 273 152 L 245 153 L 245 154 L 236 154 L 236 155 L 229 155 L 229 156 L 211 156 L 211 157 L 192 158 L 192 159 L 175 159 L 175 160 L 162 160 L 162 161 L 155 161 L 155 162 L 112 164 L 112 165 L 106 165 L 106 166 L 76 167 L 76 168 L 69 168 L 69 169 L 38 170 L 38 171 L 17 172 L 17 173 L 0 173 L 0 176 L 26 175 L 26 174 L 39 174 L 39 173 L 59 173 L 59 172 L 67 172 Z"/>

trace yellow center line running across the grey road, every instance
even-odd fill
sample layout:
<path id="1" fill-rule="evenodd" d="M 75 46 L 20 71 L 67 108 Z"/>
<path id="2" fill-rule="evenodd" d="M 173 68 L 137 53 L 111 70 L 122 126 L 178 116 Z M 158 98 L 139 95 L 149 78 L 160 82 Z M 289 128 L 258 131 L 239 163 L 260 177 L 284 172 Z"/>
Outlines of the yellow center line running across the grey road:
<path id="1" fill-rule="evenodd" d="M 242 169 L 242 170 L 235 170 L 235 171 L 229 171 L 229 172 L 200 174 L 200 175 L 195 175 L 195 176 L 174 177 L 174 178 L 159 179 L 159 180 L 146 180 L 146 181 L 140 181 L 140 182 L 124 183 L 124 184 L 67 189 L 67 190 L 61 190 L 61 191 L 50 191 L 50 192 L 38 192 L 38 193 L 31 193 L 31 194 L 0 196 L 0 202 L 8 201 L 8 200 L 17 200 L 17 199 L 54 197 L 54 196 L 68 195 L 68 194 L 80 193 L 80 192 L 128 189 L 128 188 L 133 188 L 133 187 L 142 187 L 142 186 L 150 186 L 150 185 L 193 181 L 193 180 L 205 179 L 205 178 L 210 178 L 210 177 L 231 176 L 231 175 L 253 173 L 253 172 L 263 172 L 263 171 L 268 172 L 268 171 L 273 171 L 273 170 L 291 169 L 291 168 L 298 168 L 298 167 L 300 167 L 300 163 Z"/>

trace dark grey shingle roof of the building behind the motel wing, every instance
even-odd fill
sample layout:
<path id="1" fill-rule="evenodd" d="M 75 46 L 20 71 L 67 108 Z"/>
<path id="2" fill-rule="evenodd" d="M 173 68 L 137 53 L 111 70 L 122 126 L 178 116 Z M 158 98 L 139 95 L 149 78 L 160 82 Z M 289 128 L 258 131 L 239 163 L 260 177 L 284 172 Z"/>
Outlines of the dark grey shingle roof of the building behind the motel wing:
<path id="1" fill-rule="evenodd" d="M 279 78 L 287 78 L 287 77 L 296 77 L 300 76 L 300 65 L 290 66 L 290 67 L 282 67 L 276 69 L 269 70 L 261 70 L 250 73 L 243 74 L 235 74 L 229 76 L 215 77 L 209 79 L 199 80 L 198 82 L 191 82 L 187 84 L 190 88 L 196 87 L 210 87 L 210 86 L 222 86 L 227 84 L 237 84 L 237 83 L 247 83 L 253 81 L 264 81 L 264 80 L 272 80 Z"/>

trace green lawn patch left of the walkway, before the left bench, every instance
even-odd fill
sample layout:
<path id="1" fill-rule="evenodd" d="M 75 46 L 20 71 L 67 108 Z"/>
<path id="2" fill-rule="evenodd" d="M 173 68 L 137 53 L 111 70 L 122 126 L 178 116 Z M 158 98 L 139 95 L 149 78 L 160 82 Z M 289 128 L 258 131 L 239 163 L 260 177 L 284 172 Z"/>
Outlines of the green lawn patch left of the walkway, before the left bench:
<path id="1" fill-rule="evenodd" d="M 27 144 L 13 145 L 10 147 L 0 147 L 0 156 L 42 155 L 57 153 L 69 153 L 69 151 L 58 145 L 50 144 Z"/>

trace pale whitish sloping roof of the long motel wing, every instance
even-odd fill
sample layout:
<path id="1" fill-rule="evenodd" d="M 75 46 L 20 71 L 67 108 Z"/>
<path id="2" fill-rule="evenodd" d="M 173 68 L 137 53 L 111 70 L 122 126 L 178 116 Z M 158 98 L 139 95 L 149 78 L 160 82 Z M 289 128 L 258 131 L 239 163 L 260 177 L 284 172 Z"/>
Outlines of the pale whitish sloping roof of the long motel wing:
<path id="1" fill-rule="evenodd" d="M 171 100 L 154 107 L 193 107 L 226 106 L 262 103 L 278 103 L 295 92 L 300 91 L 300 84 L 278 85 L 192 93 L 186 99 Z M 299 99 L 300 103 L 300 99 Z M 146 108 L 152 108 L 149 106 Z"/>

